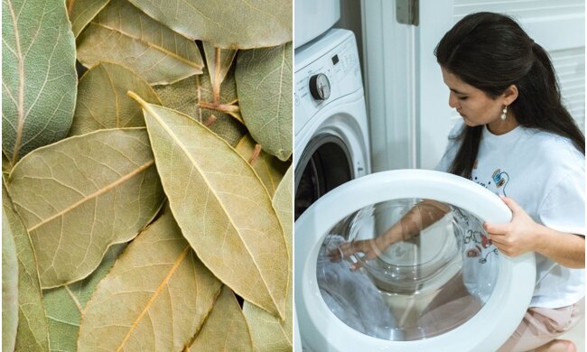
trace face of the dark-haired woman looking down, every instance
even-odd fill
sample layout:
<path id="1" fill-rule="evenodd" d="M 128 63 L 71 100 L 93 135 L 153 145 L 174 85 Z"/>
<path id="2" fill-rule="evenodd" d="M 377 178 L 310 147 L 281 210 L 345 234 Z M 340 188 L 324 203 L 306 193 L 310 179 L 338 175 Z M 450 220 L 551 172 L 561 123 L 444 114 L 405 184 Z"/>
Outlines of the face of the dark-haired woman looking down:
<path id="1" fill-rule="evenodd" d="M 482 90 L 463 82 L 452 72 L 443 70 L 444 84 L 451 89 L 449 106 L 457 109 L 465 125 L 489 125 L 499 121 L 504 103 L 500 97 L 493 99 Z"/>

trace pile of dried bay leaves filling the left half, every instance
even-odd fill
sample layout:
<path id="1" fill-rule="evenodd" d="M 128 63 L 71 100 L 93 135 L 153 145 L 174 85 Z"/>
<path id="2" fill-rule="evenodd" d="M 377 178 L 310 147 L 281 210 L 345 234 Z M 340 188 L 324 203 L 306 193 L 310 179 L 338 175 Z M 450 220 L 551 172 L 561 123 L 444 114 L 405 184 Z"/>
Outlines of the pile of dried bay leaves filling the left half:
<path id="1" fill-rule="evenodd" d="M 2 349 L 292 350 L 291 0 L 2 20 Z"/>

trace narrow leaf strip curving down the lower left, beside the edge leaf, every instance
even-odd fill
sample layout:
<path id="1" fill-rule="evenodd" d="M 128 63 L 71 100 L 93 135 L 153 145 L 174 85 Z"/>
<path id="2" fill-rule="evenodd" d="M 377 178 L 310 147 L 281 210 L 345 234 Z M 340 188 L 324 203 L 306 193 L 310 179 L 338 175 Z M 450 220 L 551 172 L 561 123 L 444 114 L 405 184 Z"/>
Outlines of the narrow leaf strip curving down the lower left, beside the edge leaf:
<path id="1" fill-rule="evenodd" d="M 13 236 L 18 259 L 19 313 L 14 350 L 48 351 L 49 328 L 42 302 L 35 253 L 23 221 L 14 211 L 13 202 L 8 196 L 4 182 L 2 184 L 2 216 L 3 236 L 5 232 Z"/>

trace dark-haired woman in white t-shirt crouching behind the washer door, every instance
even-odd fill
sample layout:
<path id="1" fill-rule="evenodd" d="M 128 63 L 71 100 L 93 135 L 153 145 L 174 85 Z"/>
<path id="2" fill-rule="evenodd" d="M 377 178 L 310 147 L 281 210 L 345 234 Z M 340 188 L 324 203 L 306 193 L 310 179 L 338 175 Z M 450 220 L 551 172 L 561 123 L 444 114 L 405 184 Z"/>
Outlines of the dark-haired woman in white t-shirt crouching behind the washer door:
<path id="1" fill-rule="evenodd" d="M 483 224 L 500 252 L 536 253 L 530 308 L 500 351 L 573 351 L 556 338 L 584 315 L 585 141 L 561 104 L 552 62 L 515 21 L 491 13 L 464 17 L 435 55 L 462 116 L 437 169 L 495 191 L 512 210 L 508 224 Z M 424 200 L 386 233 L 341 252 L 374 258 L 448 209 Z"/>

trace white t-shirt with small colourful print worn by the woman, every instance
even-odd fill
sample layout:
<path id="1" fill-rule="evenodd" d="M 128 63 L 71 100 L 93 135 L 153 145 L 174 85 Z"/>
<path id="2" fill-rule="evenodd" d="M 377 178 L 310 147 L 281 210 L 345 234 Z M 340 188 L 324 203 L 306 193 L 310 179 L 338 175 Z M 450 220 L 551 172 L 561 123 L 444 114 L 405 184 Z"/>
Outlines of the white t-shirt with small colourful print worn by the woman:
<path id="1" fill-rule="evenodd" d="M 460 121 L 452 128 L 436 170 L 450 169 L 461 144 L 456 137 L 463 127 Z M 567 138 L 523 126 L 495 135 L 486 126 L 471 178 L 514 199 L 536 223 L 585 236 L 585 157 Z M 498 255 L 493 246 L 478 247 L 488 252 L 480 256 Z M 585 295 L 584 272 L 536 253 L 536 289 L 530 307 L 560 308 L 581 300 Z"/>

